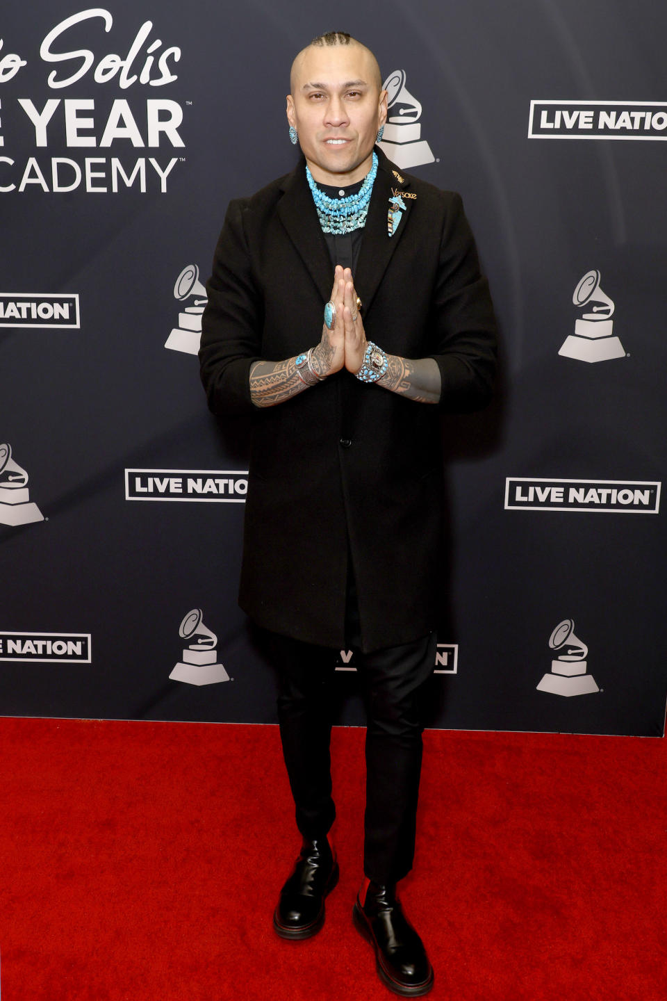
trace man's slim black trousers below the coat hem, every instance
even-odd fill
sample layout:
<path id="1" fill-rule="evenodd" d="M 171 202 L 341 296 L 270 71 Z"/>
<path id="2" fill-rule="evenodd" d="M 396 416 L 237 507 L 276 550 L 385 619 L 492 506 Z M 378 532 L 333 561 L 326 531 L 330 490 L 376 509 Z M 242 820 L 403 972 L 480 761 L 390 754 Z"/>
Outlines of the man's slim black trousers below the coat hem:
<path id="1" fill-rule="evenodd" d="M 352 641 L 358 638 L 354 612 L 348 616 L 348 635 Z M 431 633 L 371 654 L 362 654 L 351 643 L 367 714 L 364 875 L 377 883 L 398 882 L 412 869 L 423 688 L 433 673 L 436 639 Z M 330 739 L 337 651 L 275 634 L 271 647 L 279 678 L 280 737 L 297 827 L 305 837 L 324 837 L 336 816 Z"/>

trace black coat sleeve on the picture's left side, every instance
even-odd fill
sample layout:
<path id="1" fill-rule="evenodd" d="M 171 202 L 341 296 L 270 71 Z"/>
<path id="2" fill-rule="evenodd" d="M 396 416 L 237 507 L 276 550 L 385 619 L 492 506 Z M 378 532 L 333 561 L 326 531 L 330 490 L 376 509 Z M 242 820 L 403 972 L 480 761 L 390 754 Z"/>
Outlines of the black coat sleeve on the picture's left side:
<path id="1" fill-rule="evenodd" d="M 260 359 L 263 305 L 243 226 L 245 199 L 229 203 L 206 282 L 199 363 L 209 408 L 217 414 L 256 409 L 250 366 Z"/>

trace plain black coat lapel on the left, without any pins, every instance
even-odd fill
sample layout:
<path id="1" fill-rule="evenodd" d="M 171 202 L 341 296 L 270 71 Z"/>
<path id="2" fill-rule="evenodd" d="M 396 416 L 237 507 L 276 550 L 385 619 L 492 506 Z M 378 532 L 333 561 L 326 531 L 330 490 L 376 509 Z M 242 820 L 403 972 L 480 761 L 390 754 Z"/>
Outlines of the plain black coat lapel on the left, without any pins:
<path id="1" fill-rule="evenodd" d="M 278 216 L 317 285 L 322 302 L 331 295 L 333 268 L 303 161 L 285 180 Z"/>

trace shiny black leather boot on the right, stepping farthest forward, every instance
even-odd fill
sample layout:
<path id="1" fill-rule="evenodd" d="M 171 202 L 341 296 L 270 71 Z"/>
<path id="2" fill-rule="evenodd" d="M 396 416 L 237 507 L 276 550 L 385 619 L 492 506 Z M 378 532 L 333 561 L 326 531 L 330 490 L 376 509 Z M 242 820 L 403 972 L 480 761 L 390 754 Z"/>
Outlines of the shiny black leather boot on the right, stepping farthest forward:
<path id="1" fill-rule="evenodd" d="M 365 879 L 352 911 L 355 926 L 375 949 L 382 982 L 403 997 L 420 997 L 433 987 L 433 968 L 422 940 L 403 914 L 396 887 Z"/>

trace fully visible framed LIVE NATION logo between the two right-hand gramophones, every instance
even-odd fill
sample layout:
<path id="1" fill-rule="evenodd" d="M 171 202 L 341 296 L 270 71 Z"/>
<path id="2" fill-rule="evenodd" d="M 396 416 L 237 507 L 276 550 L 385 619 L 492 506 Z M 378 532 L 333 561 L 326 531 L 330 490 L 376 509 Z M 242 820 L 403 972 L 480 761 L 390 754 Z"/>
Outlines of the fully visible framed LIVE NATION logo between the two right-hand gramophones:
<path id="1" fill-rule="evenodd" d="M 632 479 L 532 479 L 508 476 L 506 511 L 618 512 L 657 515 L 661 483 Z"/>

